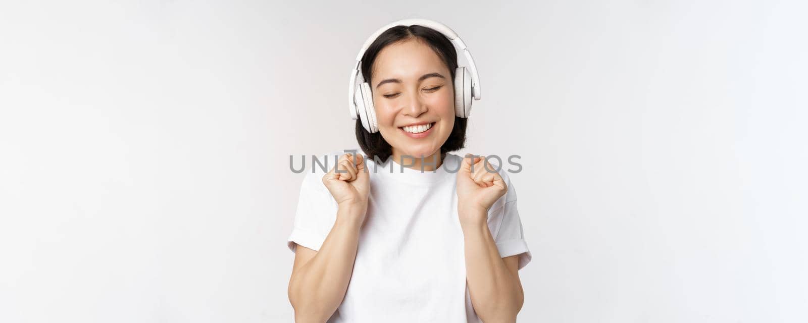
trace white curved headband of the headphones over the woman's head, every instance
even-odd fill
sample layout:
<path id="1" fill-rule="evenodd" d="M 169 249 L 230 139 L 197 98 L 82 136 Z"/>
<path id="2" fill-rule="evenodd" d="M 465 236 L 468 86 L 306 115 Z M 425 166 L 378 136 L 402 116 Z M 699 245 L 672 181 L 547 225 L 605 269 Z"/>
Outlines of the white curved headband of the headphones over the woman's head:
<path id="1" fill-rule="evenodd" d="M 452 28 L 449 28 L 443 23 L 438 23 L 433 20 L 403 19 L 393 23 L 388 23 L 387 25 L 385 25 L 385 27 L 381 27 L 377 31 L 373 32 L 372 35 L 368 37 L 368 40 L 364 41 L 364 44 L 362 45 L 362 48 L 359 51 L 359 54 L 356 55 L 356 65 L 354 66 L 354 69 L 351 69 L 351 81 L 350 84 L 348 85 L 348 103 L 349 103 L 348 108 L 351 111 L 351 119 L 356 120 L 360 112 L 359 109 L 356 107 L 356 103 L 354 102 L 354 94 L 356 91 L 356 79 L 358 77 L 363 78 L 361 82 L 364 82 L 364 76 L 362 76 L 361 71 L 362 56 L 364 56 L 364 52 L 368 50 L 370 44 L 372 44 L 373 41 L 375 41 L 377 37 L 381 35 L 382 32 L 385 32 L 390 27 L 395 27 L 399 25 L 403 26 L 420 25 L 423 27 L 430 27 L 432 29 L 435 29 L 436 31 L 439 31 L 441 34 L 446 36 L 446 38 L 448 38 L 452 42 L 452 44 L 455 44 L 457 48 L 459 48 L 465 55 L 466 61 L 469 61 L 469 70 L 471 71 L 471 80 L 472 80 L 471 93 L 473 95 L 473 98 L 476 100 L 480 99 L 480 78 L 477 73 L 477 65 L 474 65 L 474 59 L 471 57 L 471 52 L 469 52 L 469 49 L 465 47 L 465 43 L 463 42 L 463 40 L 460 39 L 460 36 L 457 36 L 457 33 L 452 31 Z"/>

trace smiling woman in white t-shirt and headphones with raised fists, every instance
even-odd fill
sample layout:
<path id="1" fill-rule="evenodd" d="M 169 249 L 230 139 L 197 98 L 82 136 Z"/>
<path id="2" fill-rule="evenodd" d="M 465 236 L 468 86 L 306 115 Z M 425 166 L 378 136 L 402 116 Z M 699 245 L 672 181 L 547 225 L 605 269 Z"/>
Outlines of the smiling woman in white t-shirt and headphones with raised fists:
<path id="1" fill-rule="evenodd" d="M 360 52 L 366 156 L 304 179 L 288 238 L 296 321 L 512 322 L 522 307 L 516 191 L 498 165 L 450 153 L 465 142 L 457 51 L 447 27 L 419 21 L 444 31 L 396 25 Z"/>

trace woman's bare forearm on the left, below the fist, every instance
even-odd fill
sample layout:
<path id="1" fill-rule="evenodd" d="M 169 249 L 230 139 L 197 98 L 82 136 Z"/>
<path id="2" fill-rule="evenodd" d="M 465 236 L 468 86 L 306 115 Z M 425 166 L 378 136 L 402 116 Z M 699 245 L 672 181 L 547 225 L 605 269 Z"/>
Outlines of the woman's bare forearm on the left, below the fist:
<path id="1" fill-rule="evenodd" d="M 295 272 L 289 283 L 289 300 L 295 321 L 324 322 L 342 303 L 351 280 L 361 223 L 351 212 L 340 207 L 334 227 L 313 258 Z M 364 211 L 362 211 L 364 212 Z"/>

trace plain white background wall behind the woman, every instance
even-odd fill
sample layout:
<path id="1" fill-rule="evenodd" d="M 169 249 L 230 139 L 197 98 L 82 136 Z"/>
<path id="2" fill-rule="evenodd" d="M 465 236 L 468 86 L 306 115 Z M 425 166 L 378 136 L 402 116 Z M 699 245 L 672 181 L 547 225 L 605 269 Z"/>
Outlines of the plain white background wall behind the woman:
<path id="1" fill-rule="evenodd" d="M 519 321 L 808 321 L 806 9 L 3 2 L 0 321 L 291 322 L 288 156 L 412 17 L 480 69 L 460 153 L 522 156 Z"/>

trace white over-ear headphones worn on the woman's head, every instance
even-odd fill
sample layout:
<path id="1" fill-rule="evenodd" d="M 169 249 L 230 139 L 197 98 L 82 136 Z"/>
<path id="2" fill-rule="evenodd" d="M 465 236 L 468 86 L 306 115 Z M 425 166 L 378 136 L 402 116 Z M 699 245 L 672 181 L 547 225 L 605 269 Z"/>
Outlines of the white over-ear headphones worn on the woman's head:
<path id="1" fill-rule="evenodd" d="M 460 66 L 459 64 L 455 70 L 455 115 L 461 118 L 468 118 L 471 113 L 471 99 L 480 99 L 480 78 L 478 77 L 477 66 L 474 65 L 474 60 L 471 58 L 471 53 L 465 48 L 463 40 L 457 36 L 457 33 L 452 31 L 452 29 L 449 29 L 449 27 L 446 27 L 446 25 L 443 23 L 437 23 L 427 19 L 404 19 L 394 23 L 389 23 L 385 27 L 381 27 L 376 32 L 373 32 L 368 40 L 365 40 L 364 45 L 362 45 L 362 49 L 359 51 L 359 55 L 356 55 L 356 66 L 354 69 L 351 69 L 351 83 L 348 86 L 348 109 L 351 113 L 351 119 L 356 120 L 356 118 L 360 118 L 360 120 L 362 120 L 362 126 L 365 128 L 365 130 L 370 133 L 379 132 L 379 127 L 376 121 L 376 110 L 373 107 L 373 96 L 370 91 L 370 85 L 367 82 L 364 82 L 364 77 L 362 76 L 362 56 L 364 56 L 364 51 L 368 49 L 370 44 L 372 44 L 372 42 L 376 40 L 376 38 L 381 35 L 382 32 L 386 31 L 390 27 L 399 25 L 420 25 L 435 29 L 441 34 L 444 34 L 446 38 L 452 41 L 452 44 L 457 45 L 457 48 L 463 51 L 466 60 L 469 61 L 469 69 L 471 70 L 471 73 L 469 75 L 465 67 Z"/>

